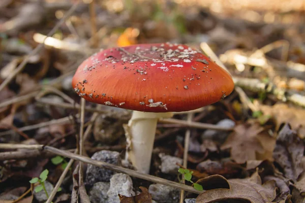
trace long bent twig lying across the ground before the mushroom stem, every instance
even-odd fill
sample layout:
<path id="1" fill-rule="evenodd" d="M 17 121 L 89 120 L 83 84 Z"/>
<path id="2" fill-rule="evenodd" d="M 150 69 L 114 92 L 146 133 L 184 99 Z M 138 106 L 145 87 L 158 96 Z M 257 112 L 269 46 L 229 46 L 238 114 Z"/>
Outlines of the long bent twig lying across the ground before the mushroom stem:
<path id="1" fill-rule="evenodd" d="M 198 191 L 195 188 L 188 186 L 188 185 L 184 185 L 181 183 L 176 183 L 173 181 L 169 181 L 163 178 L 159 178 L 159 177 L 155 177 L 155 176 L 151 176 L 151 175 L 147 175 L 147 174 L 143 174 L 143 173 L 139 173 L 137 171 L 133 171 L 129 168 L 124 168 L 121 166 L 117 166 L 117 165 L 113 165 L 110 163 L 106 163 L 103 161 L 98 161 L 98 160 L 94 160 L 94 159 L 90 159 L 88 157 L 85 156 L 81 156 L 78 154 L 74 154 L 71 152 L 67 152 L 64 150 L 60 150 L 60 149 L 56 149 L 54 147 L 49 147 L 49 146 L 43 146 L 43 145 L 22 145 L 22 144 L 0 144 L 0 149 L 39 149 L 42 151 L 46 151 L 46 152 L 50 152 L 59 156 L 63 156 L 63 157 L 67 157 L 67 158 L 71 158 L 74 160 L 78 160 L 78 161 L 82 161 L 84 163 L 87 164 L 92 164 L 95 166 L 99 166 L 99 167 L 103 167 L 112 171 L 116 171 L 118 173 L 124 173 L 127 174 L 129 176 L 135 177 L 135 178 L 140 178 L 143 180 L 147 180 L 147 181 L 151 181 L 151 182 L 155 182 L 155 183 L 160 183 L 163 185 L 167 185 L 170 187 L 174 187 L 180 190 L 185 190 L 188 192 L 192 192 L 195 194 L 200 194 L 202 191 Z"/>

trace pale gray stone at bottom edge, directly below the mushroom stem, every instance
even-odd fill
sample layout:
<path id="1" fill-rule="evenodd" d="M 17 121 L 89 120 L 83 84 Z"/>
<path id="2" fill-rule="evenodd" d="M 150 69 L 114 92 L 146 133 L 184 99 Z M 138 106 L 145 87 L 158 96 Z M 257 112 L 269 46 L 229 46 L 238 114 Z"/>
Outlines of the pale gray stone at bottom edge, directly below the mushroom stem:
<path id="1" fill-rule="evenodd" d="M 132 180 L 130 176 L 126 174 L 115 174 L 110 179 L 110 188 L 107 192 L 108 203 L 118 203 L 118 194 L 124 196 L 135 196 L 133 191 Z"/>

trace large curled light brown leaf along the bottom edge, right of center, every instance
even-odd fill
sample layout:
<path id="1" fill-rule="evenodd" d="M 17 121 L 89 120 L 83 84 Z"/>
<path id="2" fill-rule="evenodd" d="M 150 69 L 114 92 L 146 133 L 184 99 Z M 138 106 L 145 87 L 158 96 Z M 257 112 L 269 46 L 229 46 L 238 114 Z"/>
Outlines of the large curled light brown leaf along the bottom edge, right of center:
<path id="1" fill-rule="evenodd" d="M 224 178 L 222 177 L 222 180 Z M 211 179 L 213 182 L 214 179 Z M 230 188 L 220 188 L 223 183 L 219 183 L 218 189 L 210 189 L 199 194 L 196 198 L 197 203 L 209 203 L 224 201 L 228 199 L 243 199 L 252 203 L 272 202 L 276 198 L 275 181 L 271 180 L 262 184 L 261 178 L 255 172 L 247 179 L 227 180 Z M 215 185 L 216 186 L 216 185 Z"/>

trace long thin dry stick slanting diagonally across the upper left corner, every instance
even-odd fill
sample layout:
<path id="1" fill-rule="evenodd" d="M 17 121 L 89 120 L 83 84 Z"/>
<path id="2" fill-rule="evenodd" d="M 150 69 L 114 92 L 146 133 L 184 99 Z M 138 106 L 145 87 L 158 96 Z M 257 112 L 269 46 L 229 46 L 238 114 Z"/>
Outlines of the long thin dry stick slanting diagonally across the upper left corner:
<path id="1" fill-rule="evenodd" d="M 53 27 L 53 29 L 48 33 L 47 37 L 52 36 L 57 29 L 66 21 L 66 19 L 75 11 L 75 9 L 77 8 L 79 4 L 79 1 L 77 1 L 71 8 L 70 10 L 66 13 L 66 15 L 59 20 L 59 22 Z M 13 78 L 15 78 L 15 76 L 20 73 L 26 63 L 28 62 L 29 58 L 31 58 L 32 56 L 36 55 L 43 47 L 44 47 L 44 42 L 45 42 L 46 38 L 44 39 L 42 44 L 39 44 L 31 53 L 29 53 L 24 60 L 18 65 L 18 67 L 14 70 L 14 72 L 12 74 L 9 75 L 8 78 L 5 79 L 5 81 L 2 82 L 2 84 L 0 85 L 0 91 L 2 91 L 10 82 Z"/>

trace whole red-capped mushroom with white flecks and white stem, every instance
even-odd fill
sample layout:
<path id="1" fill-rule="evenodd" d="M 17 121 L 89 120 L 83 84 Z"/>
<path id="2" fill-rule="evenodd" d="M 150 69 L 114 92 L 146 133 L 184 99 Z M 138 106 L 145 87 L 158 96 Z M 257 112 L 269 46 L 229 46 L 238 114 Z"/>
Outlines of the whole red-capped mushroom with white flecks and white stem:
<path id="1" fill-rule="evenodd" d="M 72 85 L 88 101 L 134 110 L 125 126 L 126 157 L 146 174 L 159 118 L 210 105 L 234 88 L 229 73 L 208 57 L 170 43 L 96 53 L 80 64 Z"/>

